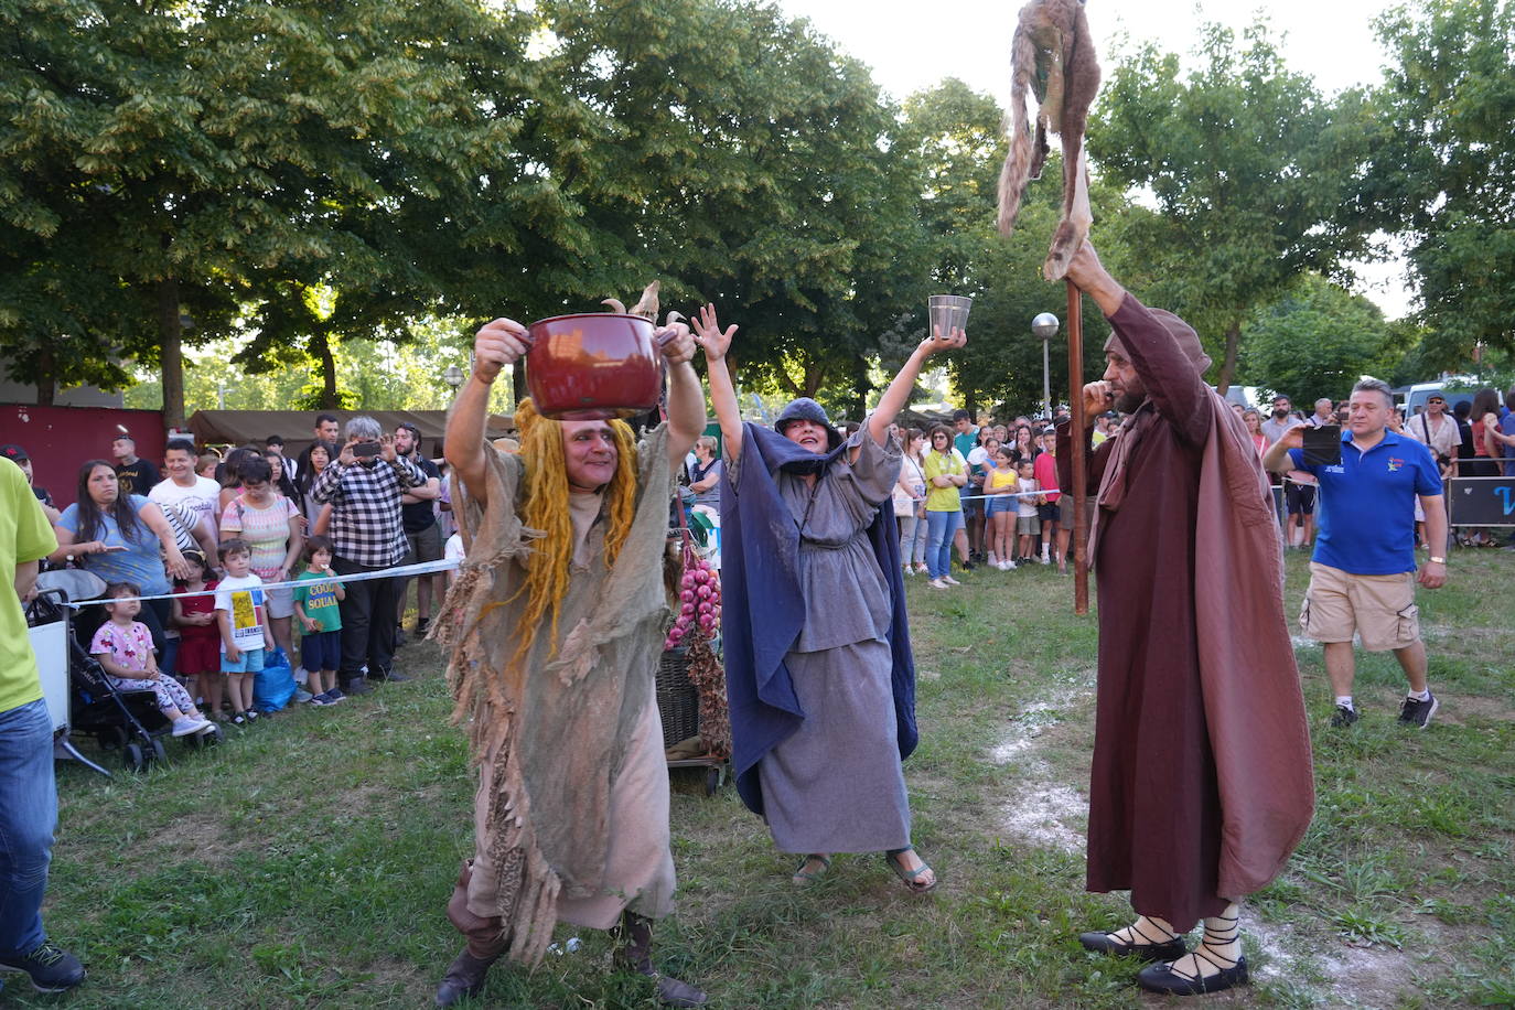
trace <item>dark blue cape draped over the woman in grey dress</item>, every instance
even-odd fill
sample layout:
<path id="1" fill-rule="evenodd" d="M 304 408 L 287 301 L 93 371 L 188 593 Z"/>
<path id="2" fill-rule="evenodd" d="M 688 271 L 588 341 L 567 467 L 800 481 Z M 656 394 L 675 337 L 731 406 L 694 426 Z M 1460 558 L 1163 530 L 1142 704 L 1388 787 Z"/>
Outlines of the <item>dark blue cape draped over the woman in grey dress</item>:
<path id="1" fill-rule="evenodd" d="M 864 438 L 868 438 L 865 433 Z M 847 445 L 826 456 L 756 424 L 742 426 L 738 483 L 721 474 L 721 644 L 726 692 L 732 709 L 732 765 L 736 792 L 747 809 L 762 815 L 758 762 L 800 728 L 804 712 L 783 665 L 804 624 L 800 597 L 800 525 L 779 494 L 777 474 L 826 471 Z M 894 718 L 900 759 L 915 750 L 915 660 L 904 612 L 900 539 L 885 500 L 868 527 L 868 542 L 889 586 L 889 650 L 894 657 Z"/>

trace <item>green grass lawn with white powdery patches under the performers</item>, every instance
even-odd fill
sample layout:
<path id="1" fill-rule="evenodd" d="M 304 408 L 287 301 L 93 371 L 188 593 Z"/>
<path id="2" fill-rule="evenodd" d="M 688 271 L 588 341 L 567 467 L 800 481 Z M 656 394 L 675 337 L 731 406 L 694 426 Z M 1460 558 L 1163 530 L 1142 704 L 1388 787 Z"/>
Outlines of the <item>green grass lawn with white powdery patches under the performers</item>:
<path id="1" fill-rule="evenodd" d="M 1289 559 L 1288 606 L 1307 571 Z M 656 957 L 720 1007 L 1135 1007 L 1135 965 L 1079 948 L 1129 919 L 1083 890 L 1094 616 L 1054 568 L 911 583 L 921 747 L 915 840 L 942 878 L 907 895 L 877 856 L 789 884 L 730 789 L 674 780 L 677 915 Z M 1300 644 L 1318 810 L 1288 872 L 1244 910 L 1254 983 L 1209 998 L 1280 1007 L 1515 1004 L 1515 556 L 1459 551 L 1421 592 L 1433 725 L 1395 725 L 1403 678 L 1360 657 L 1362 721 L 1326 727 L 1320 648 Z M 459 946 L 444 916 L 471 851 L 473 775 L 441 656 L 415 683 L 277 715 L 220 750 L 106 781 L 59 766 L 47 925 L 89 980 L 62 1001 L 11 981 L 0 1004 L 421 1007 Z M 83 743 L 94 754 L 94 745 Z M 567 939 L 571 931 L 559 930 Z M 533 974 L 495 971 L 479 1005 L 650 1007 L 604 971 L 609 943 Z"/>

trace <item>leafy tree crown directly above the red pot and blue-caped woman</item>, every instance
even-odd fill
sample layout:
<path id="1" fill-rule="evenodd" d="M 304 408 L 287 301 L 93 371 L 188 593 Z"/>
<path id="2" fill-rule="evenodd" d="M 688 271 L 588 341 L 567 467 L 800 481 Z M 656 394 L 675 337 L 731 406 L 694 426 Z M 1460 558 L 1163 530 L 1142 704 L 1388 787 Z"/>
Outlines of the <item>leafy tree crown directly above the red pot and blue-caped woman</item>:
<path id="1" fill-rule="evenodd" d="M 580 217 L 523 236 L 530 304 L 582 309 L 658 277 L 667 306 L 709 300 L 742 326 L 744 383 L 861 395 L 929 265 L 915 171 L 862 64 L 771 6 L 538 9 L 556 42 L 541 73 L 588 112 L 544 124 L 544 174 Z"/>

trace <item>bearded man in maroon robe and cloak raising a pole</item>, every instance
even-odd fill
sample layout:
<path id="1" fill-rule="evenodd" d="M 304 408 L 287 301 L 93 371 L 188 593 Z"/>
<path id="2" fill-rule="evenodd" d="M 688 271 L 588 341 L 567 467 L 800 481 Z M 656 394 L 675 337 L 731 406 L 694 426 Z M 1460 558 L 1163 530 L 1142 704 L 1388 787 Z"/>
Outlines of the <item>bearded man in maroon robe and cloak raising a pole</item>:
<path id="1" fill-rule="evenodd" d="M 1144 989 L 1220 992 L 1247 981 L 1238 902 L 1282 871 L 1314 810 L 1273 497 L 1242 421 L 1204 385 L 1194 330 L 1127 294 L 1088 242 L 1068 280 L 1114 327 L 1083 416 L 1129 415 L 1098 448 L 1080 433 L 1100 489 L 1088 889 L 1129 889 L 1138 919 L 1080 942 L 1156 962 Z M 1071 438 L 1065 421 L 1065 488 Z"/>

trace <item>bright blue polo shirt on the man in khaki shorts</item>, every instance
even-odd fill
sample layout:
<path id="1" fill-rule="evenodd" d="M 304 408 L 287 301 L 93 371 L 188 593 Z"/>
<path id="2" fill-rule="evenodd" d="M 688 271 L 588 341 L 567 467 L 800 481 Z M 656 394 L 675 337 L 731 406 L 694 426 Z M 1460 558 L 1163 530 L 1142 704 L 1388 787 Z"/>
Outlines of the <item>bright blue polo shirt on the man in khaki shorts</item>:
<path id="1" fill-rule="evenodd" d="M 1320 482 L 1314 560 L 1354 575 L 1415 571 L 1415 497 L 1442 492 L 1429 448 L 1385 429 L 1364 453 L 1342 432 L 1341 465 L 1306 466 L 1298 448 L 1289 459 Z"/>

